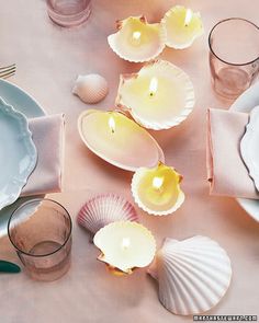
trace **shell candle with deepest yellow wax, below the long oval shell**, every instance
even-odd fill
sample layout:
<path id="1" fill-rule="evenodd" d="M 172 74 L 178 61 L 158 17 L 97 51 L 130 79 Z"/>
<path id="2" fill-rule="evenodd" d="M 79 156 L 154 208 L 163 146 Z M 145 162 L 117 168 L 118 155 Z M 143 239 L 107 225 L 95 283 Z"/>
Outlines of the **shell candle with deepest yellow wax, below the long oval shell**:
<path id="1" fill-rule="evenodd" d="M 133 197 L 150 215 L 170 215 L 184 201 L 181 178 L 173 168 L 162 163 L 153 169 L 142 168 L 133 176 Z"/>

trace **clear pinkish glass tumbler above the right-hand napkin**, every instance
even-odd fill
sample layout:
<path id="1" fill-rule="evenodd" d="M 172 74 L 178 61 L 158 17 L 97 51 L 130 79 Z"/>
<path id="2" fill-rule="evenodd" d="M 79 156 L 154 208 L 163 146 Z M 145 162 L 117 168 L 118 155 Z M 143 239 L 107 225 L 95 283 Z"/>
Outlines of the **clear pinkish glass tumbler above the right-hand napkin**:
<path id="1" fill-rule="evenodd" d="M 209 36 L 210 68 L 217 94 L 235 99 L 248 89 L 259 72 L 259 28 L 230 18 L 218 22 Z"/>

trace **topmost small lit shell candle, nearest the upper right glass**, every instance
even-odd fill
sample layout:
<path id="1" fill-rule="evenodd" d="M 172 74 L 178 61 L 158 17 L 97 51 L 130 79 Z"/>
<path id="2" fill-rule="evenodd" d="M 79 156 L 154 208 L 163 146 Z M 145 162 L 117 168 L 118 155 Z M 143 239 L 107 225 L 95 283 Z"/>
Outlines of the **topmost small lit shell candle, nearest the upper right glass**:
<path id="1" fill-rule="evenodd" d="M 187 14 L 190 22 L 187 24 Z M 176 5 L 166 12 L 161 20 L 167 34 L 166 45 L 176 49 L 190 47 L 203 33 L 203 24 L 199 12 L 192 12 L 183 5 Z"/>

